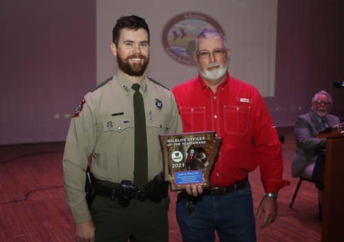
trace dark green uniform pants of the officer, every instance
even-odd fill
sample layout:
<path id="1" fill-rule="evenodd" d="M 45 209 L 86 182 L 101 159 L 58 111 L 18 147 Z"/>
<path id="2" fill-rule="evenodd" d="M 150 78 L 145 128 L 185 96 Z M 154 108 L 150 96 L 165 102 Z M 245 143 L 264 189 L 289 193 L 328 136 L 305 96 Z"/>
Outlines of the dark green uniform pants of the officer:
<path id="1" fill-rule="evenodd" d="M 167 242 L 168 210 L 169 197 L 160 203 L 131 199 L 122 208 L 117 201 L 96 196 L 91 211 L 96 242 Z"/>

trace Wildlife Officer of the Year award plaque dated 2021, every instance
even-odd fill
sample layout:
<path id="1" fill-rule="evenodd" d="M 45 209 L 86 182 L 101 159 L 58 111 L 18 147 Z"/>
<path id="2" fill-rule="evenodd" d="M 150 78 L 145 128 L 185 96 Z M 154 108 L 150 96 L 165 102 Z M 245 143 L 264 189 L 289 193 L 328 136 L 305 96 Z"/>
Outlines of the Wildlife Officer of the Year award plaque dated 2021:
<path id="1" fill-rule="evenodd" d="M 221 143 L 215 131 L 159 134 L 159 139 L 164 179 L 171 183 L 171 191 L 183 190 L 186 185 L 208 188 Z"/>

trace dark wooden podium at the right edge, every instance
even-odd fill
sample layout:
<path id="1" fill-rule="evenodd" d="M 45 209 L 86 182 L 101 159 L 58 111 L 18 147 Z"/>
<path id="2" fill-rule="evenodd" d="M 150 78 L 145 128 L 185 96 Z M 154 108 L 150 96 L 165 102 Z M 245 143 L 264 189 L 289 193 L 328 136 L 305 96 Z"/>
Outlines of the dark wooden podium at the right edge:
<path id="1" fill-rule="evenodd" d="M 343 241 L 344 133 L 334 128 L 318 137 L 326 138 L 321 242 Z"/>

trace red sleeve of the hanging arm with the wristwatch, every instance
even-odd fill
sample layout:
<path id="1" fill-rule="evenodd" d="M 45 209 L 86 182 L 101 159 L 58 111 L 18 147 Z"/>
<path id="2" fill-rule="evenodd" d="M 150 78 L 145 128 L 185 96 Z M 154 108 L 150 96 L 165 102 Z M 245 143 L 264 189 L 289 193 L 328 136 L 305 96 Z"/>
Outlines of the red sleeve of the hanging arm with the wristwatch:
<path id="1" fill-rule="evenodd" d="M 272 118 L 266 107 L 264 99 L 257 92 L 255 97 L 255 115 L 253 144 L 257 162 L 261 172 L 261 182 L 265 192 L 278 192 L 279 189 L 289 185 L 289 181 L 283 177 L 283 161 L 281 143 Z"/>

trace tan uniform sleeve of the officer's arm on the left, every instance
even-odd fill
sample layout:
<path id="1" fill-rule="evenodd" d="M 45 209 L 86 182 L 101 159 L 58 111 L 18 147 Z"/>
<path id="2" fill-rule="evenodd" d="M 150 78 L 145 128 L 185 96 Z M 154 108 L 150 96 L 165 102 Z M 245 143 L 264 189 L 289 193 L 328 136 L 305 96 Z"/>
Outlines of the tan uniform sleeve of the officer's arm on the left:
<path id="1" fill-rule="evenodd" d="M 79 106 L 69 125 L 63 154 L 63 181 L 66 200 L 75 223 L 91 220 L 85 199 L 85 178 L 89 155 L 96 141 L 96 121 L 87 103 Z"/>

